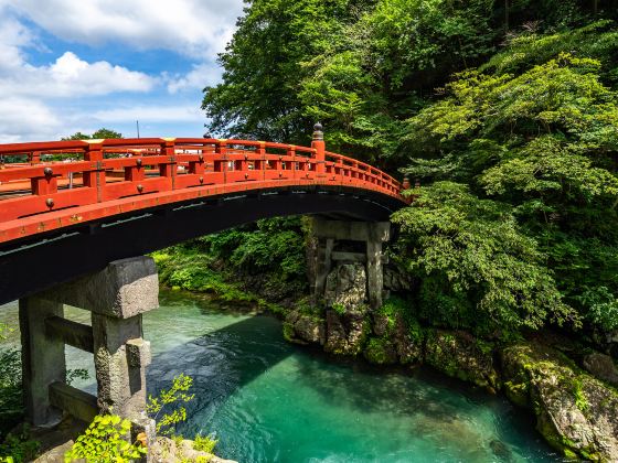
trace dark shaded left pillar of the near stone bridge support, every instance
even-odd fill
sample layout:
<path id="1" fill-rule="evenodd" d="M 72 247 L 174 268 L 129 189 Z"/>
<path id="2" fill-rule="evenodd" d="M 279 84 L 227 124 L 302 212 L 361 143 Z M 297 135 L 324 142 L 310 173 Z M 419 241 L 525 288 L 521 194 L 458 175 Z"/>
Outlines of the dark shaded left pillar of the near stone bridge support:
<path id="1" fill-rule="evenodd" d="M 49 388 L 65 381 L 64 343 L 45 335 L 45 319 L 63 312 L 61 303 L 36 297 L 19 301 L 23 394 L 34 426 L 52 426 L 62 418 L 62 410 L 51 405 Z"/>

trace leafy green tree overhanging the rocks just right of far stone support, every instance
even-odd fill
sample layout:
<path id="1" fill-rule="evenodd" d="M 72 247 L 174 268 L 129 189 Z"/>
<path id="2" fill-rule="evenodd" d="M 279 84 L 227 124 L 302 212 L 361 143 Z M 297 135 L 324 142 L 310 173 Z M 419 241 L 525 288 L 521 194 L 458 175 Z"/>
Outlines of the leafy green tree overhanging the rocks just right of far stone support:
<path id="1" fill-rule="evenodd" d="M 508 205 L 448 182 L 416 193 L 415 203 L 393 216 L 404 234 L 398 249 L 418 278 L 444 277 L 436 299 L 450 293 L 472 302 L 460 326 L 518 330 L 575 321 L 536 243 L 519 229 Z M 479 317 L 482 323 L 472 322 Z"/>

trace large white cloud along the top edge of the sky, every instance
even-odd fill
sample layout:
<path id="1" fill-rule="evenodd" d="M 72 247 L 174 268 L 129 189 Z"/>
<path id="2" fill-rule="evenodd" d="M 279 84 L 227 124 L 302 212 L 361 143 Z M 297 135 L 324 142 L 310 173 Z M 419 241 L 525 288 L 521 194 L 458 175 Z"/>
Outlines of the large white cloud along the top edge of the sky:
<path id="1" fill-rule="evenodd" d="M 36 24 L 65 40 L 121 42 L 213 57 L 232 37 L 242 0 L 10 0 Z"/>

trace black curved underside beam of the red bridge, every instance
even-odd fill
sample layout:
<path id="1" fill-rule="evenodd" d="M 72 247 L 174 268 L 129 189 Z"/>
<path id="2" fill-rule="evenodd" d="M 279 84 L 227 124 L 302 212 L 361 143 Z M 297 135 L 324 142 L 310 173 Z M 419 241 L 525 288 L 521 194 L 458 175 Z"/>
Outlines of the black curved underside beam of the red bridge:
<path id="1" fill-rule="evenodd" d="M 286 187 L 210 196 L 89 222 L 0 246 L 0 304 L 188 239 L 259 218 L 320 214 L 388 220 L 404 205 L 375 192 L 342 186 Z"/>

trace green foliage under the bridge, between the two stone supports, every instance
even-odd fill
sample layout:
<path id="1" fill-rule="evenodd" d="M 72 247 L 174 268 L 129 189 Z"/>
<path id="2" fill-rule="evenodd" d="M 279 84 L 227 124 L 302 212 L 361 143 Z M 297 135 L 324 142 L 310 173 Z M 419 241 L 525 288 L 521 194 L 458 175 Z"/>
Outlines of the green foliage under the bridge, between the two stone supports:
<path id="1" fill-rule="evenodd" d="M 161 282 L 223 300 L 283 302 L 306 291 L 305 225 L 300 217 L 257 220 L 158 251 Z"/>

